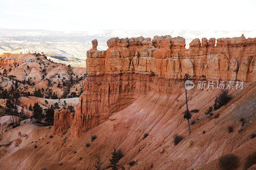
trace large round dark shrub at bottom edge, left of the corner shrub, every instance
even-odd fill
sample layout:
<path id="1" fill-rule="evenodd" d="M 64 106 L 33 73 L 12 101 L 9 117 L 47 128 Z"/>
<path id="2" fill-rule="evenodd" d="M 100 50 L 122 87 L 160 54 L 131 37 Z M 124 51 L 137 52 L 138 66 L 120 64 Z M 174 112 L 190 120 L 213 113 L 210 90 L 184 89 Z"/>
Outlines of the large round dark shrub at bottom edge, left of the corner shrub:
<path id="1" fill-rule="evenodd" d="M 236 169 L 238 167 L 238 164 L 239 164 L 238 157 L 234 154 L 224 155 L 220 157 L 220 160 L 219 160 L 220 169 L 225 169 L 225 170 Z"/>

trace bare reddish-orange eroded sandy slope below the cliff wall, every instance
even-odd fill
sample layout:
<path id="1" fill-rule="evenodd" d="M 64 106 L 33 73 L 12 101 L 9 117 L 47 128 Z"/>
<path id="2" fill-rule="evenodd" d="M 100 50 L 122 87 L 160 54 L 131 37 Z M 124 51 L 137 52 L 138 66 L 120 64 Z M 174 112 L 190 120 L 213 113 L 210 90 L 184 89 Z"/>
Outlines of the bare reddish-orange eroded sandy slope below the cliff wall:
<path id="1" fill-rule="evenodd" d="M 199 114 L 192 117 L 192 120 L 199 120 L 191 126 L 191 134 L 187 121 L 182 118 L 184 93 L 178 96 L 149 92 L 78 139 L 70 137 L 70 129 L 50 139 L 51 129 L 26 123 L 0 135 L 2 144 L 3 140 L 12 140 L 19 130 L 28 134 L 28 139 L 17 148 L 13 144 L 0 148 L 8 151 L 0 158 L 0 169 L 93 169 L 96 154 L 101 156 L 103 167 L 106 167 L 114 148 L 124 151 L 119 164 L 125 169 L 191 169 L 200 166 L 203 167 L 199 169 L 219 169 L 218 158 L 229 152 L 239 157 L 241 169 L 245 157 L 256 150 L 256 138 L 250 138 L 256 132 L 256 86 L 255 83 L 246 86 L 244 90 L 231 91 L 234 98 L 214 111 L 214 115 L 220 113 L 216 119 L 214 115 L 207 117 L 204 112 L 213 105 L 219 90 L 189 91 L 190 109 L 200 109 Z M 239 133 L 241 117 L 246 123 Z M 234 127 L 233 132 L 228 133 L 228 125 Z M 146 132 L 149 136 L 143 140 Z M 176 132 L 185 138 L 175 146 L 172 136 Z M 92 134 L 97 138 L 87 148 L 85 143 L 90 141 Z M 188 148 L 189 141 L 193 144 Z M 136 160 L 134 166 L 127 165 L 131 160 Z"/>

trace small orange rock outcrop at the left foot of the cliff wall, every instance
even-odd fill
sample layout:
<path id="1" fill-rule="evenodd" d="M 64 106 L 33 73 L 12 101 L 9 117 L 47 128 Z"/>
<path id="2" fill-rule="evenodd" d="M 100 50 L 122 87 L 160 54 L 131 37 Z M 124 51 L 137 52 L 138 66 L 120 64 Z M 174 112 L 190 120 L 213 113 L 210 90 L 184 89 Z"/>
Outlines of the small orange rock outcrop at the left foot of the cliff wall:
<path id="1" fill-rule="evenodd" d="M 60 134 L 64 130 L 70 128 L 74 118 L 74 113 L 65 109 L 56 110 L 54 113 L 53 133 Z"/>

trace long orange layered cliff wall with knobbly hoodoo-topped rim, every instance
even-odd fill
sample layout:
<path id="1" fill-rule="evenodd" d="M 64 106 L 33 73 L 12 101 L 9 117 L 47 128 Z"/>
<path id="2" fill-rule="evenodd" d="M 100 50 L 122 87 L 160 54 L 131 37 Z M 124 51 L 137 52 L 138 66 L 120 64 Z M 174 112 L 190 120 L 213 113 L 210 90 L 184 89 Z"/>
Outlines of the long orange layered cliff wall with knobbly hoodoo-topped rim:
<path id="1" fill-rule="evenodd" d="M 87 51 L 88 78 L 76 106 L 71 135 L 79 137 L 149 91 L 182 93 L 185 73 L 198 80 L 256 81 L 256 38 L 193 40 L 170 35 L 112 38 L 106 51 L 97 40 Z"/>

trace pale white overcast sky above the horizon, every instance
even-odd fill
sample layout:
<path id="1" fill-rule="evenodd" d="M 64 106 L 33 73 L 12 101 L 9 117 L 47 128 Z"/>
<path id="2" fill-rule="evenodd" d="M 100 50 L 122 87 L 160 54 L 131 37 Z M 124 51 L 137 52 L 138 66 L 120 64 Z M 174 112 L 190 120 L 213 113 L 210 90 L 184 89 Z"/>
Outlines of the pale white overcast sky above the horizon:
<path id="1" fill-rule="evenodd" d="M 255 0 L 0 0 L 0 28 L 256 30 Z"/>

